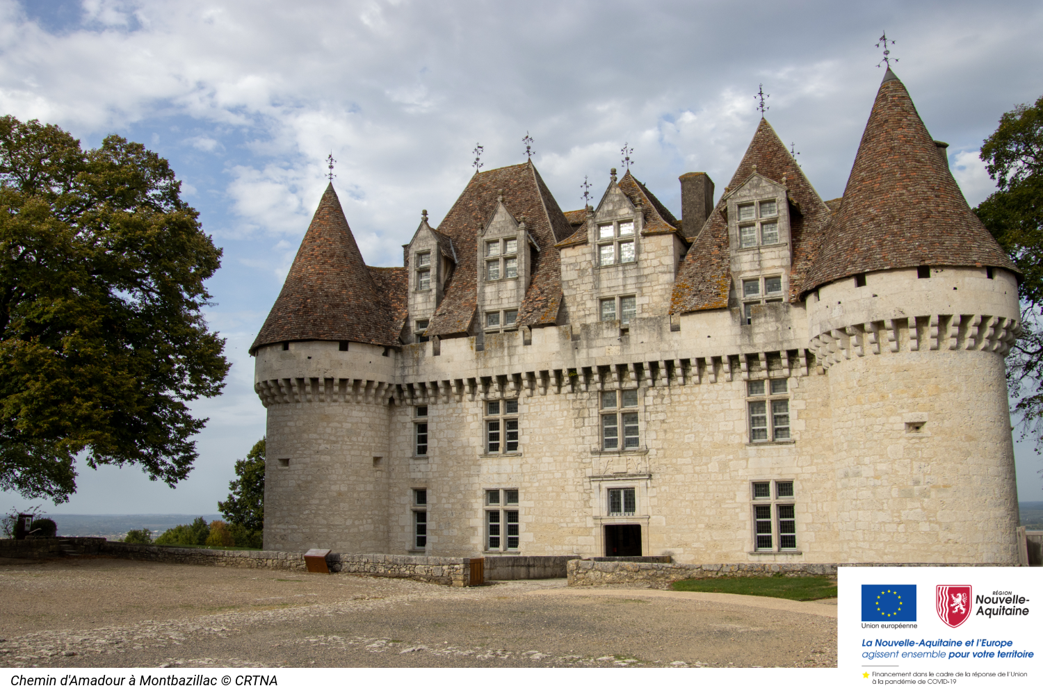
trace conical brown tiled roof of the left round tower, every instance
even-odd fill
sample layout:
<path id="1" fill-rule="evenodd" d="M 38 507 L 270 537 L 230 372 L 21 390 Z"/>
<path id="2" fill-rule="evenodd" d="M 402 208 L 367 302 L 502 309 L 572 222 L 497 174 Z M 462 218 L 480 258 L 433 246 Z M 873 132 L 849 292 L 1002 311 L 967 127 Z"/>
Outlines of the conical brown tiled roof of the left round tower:
<path id="1" fill-rule="evenodd" d="M 250 352 L 284 341 L 397 345 L 389 315 L 331 184 Z"/>

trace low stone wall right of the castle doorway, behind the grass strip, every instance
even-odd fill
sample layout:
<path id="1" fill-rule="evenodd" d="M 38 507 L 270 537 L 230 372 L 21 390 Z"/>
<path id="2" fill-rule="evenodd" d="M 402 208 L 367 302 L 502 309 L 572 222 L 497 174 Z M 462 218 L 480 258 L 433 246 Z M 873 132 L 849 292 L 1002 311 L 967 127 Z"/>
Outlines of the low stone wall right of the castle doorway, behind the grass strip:
<path id="1" fill-rule="evenodd" d="M 798 563 L 742 563 L 734 565 L 675 565 L 673 563 L 621 563 L 597 560 L 568 561 L 569 587 L 601 587 L 613 584 L 641 584 L 669 587 L 681 579 L 712 577 L 836 576 L 836 565 Z"/>

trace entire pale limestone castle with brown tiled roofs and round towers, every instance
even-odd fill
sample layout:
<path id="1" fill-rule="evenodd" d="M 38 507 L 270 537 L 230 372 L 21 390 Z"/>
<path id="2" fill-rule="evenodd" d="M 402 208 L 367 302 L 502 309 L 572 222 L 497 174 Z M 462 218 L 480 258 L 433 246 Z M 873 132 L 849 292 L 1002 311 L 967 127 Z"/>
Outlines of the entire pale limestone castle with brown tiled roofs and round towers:
<path id="1" fill-rule="evenodd" d="M 476 173 L 402 268 L 326 189 L 250 348 L 264 547 L 1016 562 L 1020 271 L 889 69 L 844 197 L 761 119 L 678 220 Z"/>

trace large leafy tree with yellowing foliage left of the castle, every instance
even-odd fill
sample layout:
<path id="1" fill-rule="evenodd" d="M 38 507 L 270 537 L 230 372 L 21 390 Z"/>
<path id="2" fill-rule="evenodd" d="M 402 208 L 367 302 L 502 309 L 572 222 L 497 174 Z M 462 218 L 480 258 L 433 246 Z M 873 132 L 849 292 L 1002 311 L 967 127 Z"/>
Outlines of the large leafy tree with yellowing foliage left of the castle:
<path id="1" fill-rule="evenodd" d="M 221 251 L 169 164 L 0 118 L 0 489 L 67 501 L 74 457 L 174 487 L 228 363 L 203 282 Z"/>

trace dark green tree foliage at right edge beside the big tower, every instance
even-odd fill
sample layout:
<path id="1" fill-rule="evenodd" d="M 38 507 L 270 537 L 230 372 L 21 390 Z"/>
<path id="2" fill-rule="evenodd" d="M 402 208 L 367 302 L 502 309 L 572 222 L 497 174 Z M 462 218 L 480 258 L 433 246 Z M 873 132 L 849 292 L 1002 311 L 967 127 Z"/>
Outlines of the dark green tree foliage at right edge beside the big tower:
<path id="1" fill-rule="evenodd" d="M 985 141 L 981 160 L 999 190 L 978 218 L 1024 273 L 1020 295 L 1025 332 L 1006 358 L 1022 437 L 1043 441 L 1043 97 L 1000 118 Z"/>

